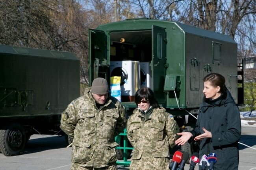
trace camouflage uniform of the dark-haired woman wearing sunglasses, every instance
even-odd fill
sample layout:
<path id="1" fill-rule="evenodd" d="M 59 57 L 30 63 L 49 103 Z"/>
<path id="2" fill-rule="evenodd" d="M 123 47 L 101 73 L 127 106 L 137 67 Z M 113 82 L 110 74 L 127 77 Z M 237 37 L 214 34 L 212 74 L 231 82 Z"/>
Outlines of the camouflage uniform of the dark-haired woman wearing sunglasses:
<path id="1" fill-rule="evenodd" d="M 169 146 L 173 148 L 179 127 L 173 115 L 155 108 L 148 119 L 136 108 L 127 121 L 127 137 L 134 146 L 130 170 L 169 170 Z"/>

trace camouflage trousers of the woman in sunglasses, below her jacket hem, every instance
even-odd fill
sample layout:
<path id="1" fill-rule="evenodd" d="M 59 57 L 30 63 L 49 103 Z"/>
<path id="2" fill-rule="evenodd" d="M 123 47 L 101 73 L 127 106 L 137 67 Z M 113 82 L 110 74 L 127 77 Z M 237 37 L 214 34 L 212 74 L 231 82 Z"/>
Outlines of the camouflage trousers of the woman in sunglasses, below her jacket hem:
<path id="1" fill-rule="evenodd" d="M 170 159 L 167 157 L 141 157 L 132 160 L 130 170 L 169 170 Z"/>

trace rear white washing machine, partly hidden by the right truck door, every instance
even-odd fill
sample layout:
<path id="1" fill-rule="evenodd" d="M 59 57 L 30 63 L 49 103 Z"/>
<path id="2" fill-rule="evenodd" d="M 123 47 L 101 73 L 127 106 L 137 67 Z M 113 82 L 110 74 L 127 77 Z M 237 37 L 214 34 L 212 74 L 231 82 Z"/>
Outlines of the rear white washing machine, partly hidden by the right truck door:
<path id="1" fill-rule="evenodd" d="M 152 83 L 152 71 L 149 66 L 149 62 L 141 62 L 141 88 L 151 88 Z"/>

